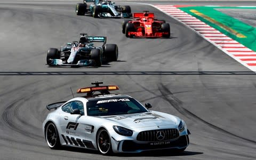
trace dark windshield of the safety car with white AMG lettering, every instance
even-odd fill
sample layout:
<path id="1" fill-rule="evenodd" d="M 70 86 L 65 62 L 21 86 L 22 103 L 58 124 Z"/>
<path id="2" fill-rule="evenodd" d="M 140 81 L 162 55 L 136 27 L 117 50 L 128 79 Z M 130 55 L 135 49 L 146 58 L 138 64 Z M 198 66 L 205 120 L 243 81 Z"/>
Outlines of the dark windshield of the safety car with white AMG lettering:
<path id="1" fill-rule="evenodd" d="M 108 98 L 86 103 L 88 116 L 111 116 L 143 113 L 148 110 L 133 98 Z"/>

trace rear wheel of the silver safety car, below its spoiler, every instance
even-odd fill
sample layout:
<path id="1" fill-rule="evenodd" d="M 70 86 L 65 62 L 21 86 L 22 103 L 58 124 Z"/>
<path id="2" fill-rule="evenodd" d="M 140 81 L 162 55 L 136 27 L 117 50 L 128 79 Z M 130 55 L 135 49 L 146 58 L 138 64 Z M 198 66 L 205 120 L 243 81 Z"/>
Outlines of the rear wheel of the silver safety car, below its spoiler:
<path id="1" fill-rule="evenodd" d="M 60 137 L 57 127 L 50 122 L 45 127 L 45 140 L 51 149 L 60 149 Z"/>

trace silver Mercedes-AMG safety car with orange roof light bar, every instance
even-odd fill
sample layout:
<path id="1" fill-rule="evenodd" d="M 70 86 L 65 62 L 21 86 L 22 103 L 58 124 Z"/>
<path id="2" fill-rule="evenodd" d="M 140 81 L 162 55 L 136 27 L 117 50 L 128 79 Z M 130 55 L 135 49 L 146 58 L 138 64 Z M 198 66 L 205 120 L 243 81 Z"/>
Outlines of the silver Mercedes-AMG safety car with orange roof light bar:
<path id="1" fill-rule="evenodd" d="M 140 153 L 146 150 L 183 151 L 189 145 L 186 123 L 173 115 L 149 110 L 129 95 L 110 94 L 115 85 L 79 89 L 87 93 L 65 102 L 52 103 L 43 122 L 51 149 L 71 146 L 111 153 Z M 95 94 L 95 93 L 99 94 Z"/>

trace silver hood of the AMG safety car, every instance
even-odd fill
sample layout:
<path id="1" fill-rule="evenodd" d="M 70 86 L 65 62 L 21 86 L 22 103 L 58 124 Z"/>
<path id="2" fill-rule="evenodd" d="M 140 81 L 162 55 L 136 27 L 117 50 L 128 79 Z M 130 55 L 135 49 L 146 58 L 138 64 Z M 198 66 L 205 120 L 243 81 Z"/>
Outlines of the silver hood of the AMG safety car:
<path id="1" fill-rule="evenodd" d="M 114 121 L 117 125 L 127 127 L 129 129 L 139 129 L 151 126 L 167 126 L 176 128 L 180 119 L 173 115 L 151 111 L 149 113 L 127 114 L 103 117 L 109 121 Z"/>

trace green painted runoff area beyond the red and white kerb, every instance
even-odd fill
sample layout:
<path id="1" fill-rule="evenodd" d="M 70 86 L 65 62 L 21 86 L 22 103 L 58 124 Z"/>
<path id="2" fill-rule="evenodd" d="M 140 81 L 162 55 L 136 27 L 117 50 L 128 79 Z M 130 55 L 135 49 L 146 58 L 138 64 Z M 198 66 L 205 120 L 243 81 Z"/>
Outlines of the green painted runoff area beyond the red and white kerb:
<path id="1" fill-rule="evenodd" d="M 237 42 L 245 45 L 249 49 L 256 51 L 256 29 L 253 26 L 250 26 L 238 19 L 230 17 L 229 15 L 217 11 L 215 9 L 252 9 L 255 10 L 256 7 L 224 7 L 224 6 L 189 6 L 189 7 L 178 7 L 180 10 L 196 17 L 197 19 L 207 23 L 207 25 L 219 30 L 221 33 L 227 35 L 228 37 L 236 40 Z M 196 14 L 195 10 L 199 13 Z M 241 10 L 242 12 L 242 10 Z M 203 17 L 210 17 L 211 20 L 207 20 L 207 18 Z M 218 23 L 214 23 L 217 21 Z M 234 32 L 223 28 L 223 25 L 226 28 L 231 28 L 231 30 L 235 31 L 236 33 L 244 35 L 244 37 L 239 37 Z"/>

